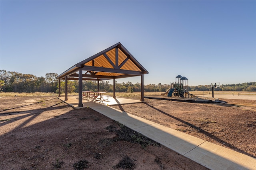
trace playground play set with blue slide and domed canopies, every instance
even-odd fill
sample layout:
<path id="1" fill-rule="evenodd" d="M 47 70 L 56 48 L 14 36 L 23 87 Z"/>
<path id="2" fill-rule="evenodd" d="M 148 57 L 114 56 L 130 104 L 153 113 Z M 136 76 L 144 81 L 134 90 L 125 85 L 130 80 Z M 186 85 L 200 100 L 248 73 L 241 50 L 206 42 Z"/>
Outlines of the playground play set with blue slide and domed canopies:
<path id="1" fill-rule="evenodd" d="M 166 94 L 168 97 L 172 97 L 172 95 L 180 98 L 189 98 L 189 96 L 191 98 L 196 97 L 194 94 L 188 92 L 188 78 L 181 75 L 176 76 L 175 82 L 171 82 L 171 87 L 166 92 L 162 93 L 162 96 Z"/>

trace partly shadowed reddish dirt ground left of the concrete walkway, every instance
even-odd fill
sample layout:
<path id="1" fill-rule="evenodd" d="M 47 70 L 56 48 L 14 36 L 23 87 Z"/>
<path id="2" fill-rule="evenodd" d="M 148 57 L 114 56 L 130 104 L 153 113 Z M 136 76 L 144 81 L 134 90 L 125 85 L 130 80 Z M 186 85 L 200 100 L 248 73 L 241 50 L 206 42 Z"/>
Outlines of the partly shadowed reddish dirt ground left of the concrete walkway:
<path id="1" fill-rule="evenodd" d="M 52 96 L 0 98 L 1 170 L 205 170 L 90 109 Z"/>

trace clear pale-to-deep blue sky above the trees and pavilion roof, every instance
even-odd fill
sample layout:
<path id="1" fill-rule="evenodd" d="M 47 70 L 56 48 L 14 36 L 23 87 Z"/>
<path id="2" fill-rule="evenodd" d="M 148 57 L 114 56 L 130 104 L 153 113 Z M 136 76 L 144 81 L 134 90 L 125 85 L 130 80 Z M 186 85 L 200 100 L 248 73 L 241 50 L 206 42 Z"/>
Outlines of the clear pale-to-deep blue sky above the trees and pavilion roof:
<path id="1" fill-rule="evenodd" d="M 0 68 L 45 77 L 120 42 L 144 84 L 256 81 L 256 1 L 0 1 Z M 117 79 L 118 80 L 118 79 Z M 118 82 L 140 82 L 140 77 Z M 112 80 L 110 81 L 112 83 Z"/>

